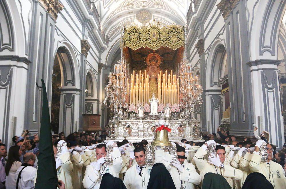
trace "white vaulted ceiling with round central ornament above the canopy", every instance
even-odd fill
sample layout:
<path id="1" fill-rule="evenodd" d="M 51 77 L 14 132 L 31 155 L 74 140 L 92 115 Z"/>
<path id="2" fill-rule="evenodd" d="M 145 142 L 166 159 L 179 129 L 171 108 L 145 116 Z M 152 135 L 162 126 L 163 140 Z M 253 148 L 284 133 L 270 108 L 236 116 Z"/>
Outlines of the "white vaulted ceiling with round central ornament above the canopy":
<path id="1" fill-rule="evenodd" d="M 190 0 L 91 0 L 100 15 L 102 31 L 110 41 L 120 38 L 122 26 L 155 19 L 161 25 L 186 25 Z"/>

